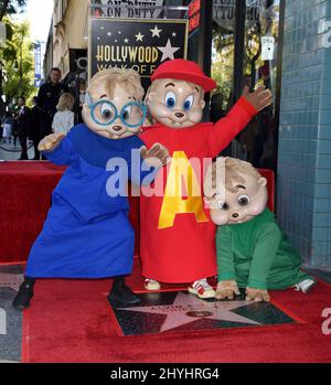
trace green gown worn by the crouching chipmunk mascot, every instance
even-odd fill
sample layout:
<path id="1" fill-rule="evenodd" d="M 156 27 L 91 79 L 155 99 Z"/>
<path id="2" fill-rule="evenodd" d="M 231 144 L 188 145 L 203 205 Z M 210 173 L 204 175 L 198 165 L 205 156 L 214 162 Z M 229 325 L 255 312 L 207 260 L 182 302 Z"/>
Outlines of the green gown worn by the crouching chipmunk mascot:
<path id="1" fill-rule="evenodd" d="M 216 248 L 218 281 L 234 279 L 238 287 L 267 290 L 313 279 L 300 270 L 300 254 L 268 208 L 248 222 L 218 226 Z"/>

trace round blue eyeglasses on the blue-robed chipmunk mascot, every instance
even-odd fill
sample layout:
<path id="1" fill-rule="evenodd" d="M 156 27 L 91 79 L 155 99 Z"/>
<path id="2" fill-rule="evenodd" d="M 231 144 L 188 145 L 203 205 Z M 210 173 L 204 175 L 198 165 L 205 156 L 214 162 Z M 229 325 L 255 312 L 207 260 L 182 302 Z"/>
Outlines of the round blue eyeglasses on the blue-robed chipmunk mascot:
<path id="1" fill-rule="evenodd" d="M 110 100 L 98 100 L 89 104 L 88 107 L 93 121 L 99 126 L 110 126 L 119 118 L 125 126 L 137 128 L 142 126 L 147 114 L 146 106 L 137 101 L 127 103 L 119 114 L 115 104 Z"/>

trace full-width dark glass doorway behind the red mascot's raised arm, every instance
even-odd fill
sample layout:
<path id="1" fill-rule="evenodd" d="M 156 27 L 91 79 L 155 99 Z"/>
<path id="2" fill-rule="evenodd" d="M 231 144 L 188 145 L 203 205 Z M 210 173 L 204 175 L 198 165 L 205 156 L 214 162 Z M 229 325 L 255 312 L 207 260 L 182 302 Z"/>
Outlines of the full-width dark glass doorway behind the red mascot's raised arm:
<path id="1" fill-rule="evenodd" d="M 241 7 L 241 9 L 236 7 Z M 284 0 L 213 0 L 211 120 L 225 116 L 243 87 L 274 95 L 222 154 L 277 171 Z"/>

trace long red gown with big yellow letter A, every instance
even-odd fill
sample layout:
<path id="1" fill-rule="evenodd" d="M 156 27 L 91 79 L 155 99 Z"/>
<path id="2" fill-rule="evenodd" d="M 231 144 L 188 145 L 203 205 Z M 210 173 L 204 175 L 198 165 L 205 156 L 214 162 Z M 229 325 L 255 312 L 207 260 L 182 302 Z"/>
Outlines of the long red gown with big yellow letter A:
<path id="1" fill-rule="evenodd" d="M 140 199 L 140 257 L 142 276 L 161 282 L 192 282 L 215 276 L 215 225 L 211 222 L 209 210 L 203 204 L 203 159 L 215 158 L 241 132 L 256 114 L 255 108 L 242 97 L 226 117 L 212 122 L 202 122 L 193 127 L 173 129 L 160 124 L 147 127 L 141 135 L 148 148 L 160 142 L 172 157 L 169 172 L 159 173 L 156 185 L 163 182 L 166 195 L 151 195 L 153 186 L 143 188 Z M 190 167 L 191 172 L 180 172 L 175 178 L 174 159 Z M 202 170 L 200 170 L 202 169 Z M 179 170 L 179 169 L 177 169 Z M 193 181 L 200 193 L 191 196 L 190 184 Z M 161 180 L 160 180 L 161 179 Z M 163 179 L 163 180 L 162 180 Z M 172 197 L 171 191 L 177 190 Z M 189 192 L 189 194 L 188 194 Z M 194 190 L 193 190 L 194 192 Z M 160 194 L 159 194 L 160 195 Z"/>

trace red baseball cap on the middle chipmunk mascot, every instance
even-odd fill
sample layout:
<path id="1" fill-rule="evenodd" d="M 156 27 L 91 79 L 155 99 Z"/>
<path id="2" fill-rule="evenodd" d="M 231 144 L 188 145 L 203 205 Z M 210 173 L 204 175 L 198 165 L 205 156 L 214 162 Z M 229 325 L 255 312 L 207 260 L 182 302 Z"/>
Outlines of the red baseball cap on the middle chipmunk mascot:
<path id="1" fill-rule="evenodd" d="M 158 78 L 174 78 L 178 81 L 190 82 L 197 84 L 205 92 L 210 92 L 217 86 L 215 81 L 205 76 L 196 63 L 184 58 L 174 58 L 160 64 L 151 75 L 152 82 Z"/>

